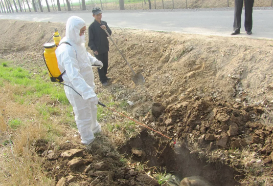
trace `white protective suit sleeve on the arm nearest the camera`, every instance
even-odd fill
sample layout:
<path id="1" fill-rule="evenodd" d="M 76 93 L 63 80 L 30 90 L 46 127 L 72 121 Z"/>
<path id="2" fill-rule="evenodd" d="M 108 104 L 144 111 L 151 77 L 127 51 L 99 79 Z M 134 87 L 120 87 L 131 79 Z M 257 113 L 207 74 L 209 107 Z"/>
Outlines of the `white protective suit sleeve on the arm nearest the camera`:
<path id="1" fill-rule="evenodd" d="M 69 46 L 71 47 L 71 46 Z M 84 100 L 88 100 L 89 98 L 93 98 L 96 96 L 93 88 L 89 86 L 84 80 L 83 76 L 80 73 L 80 68 L 78 65 L 78 61 L 76 59 L 75 50 L 65 50 L 62 55 L 63 65 L 66 70 L 66 74 L 68 76 L 69 81 L 75 87 L 75 90 L 82 95 Z"/>

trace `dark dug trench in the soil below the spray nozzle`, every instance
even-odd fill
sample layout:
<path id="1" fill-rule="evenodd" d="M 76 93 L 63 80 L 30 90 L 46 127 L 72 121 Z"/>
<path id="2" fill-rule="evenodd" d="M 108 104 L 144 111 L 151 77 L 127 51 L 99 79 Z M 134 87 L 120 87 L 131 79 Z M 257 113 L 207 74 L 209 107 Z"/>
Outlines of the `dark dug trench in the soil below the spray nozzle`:
<path id="1" fill-rule="evenodd" d="M 133 149 L 140 150 L 141 155 L 132 153 Z M 175 174 L 180 180 L 184 177 L 202 176 L 209 180 L 213 186 L 239 186 L 238 182 L 242 177 L 239 172 L 224 164 L 206 163 L 182 145 L 175 148 L 166 142 L 150 136 L 147 131 L 142 131 L 139 136 L 131 139 L 126 145 L 120 147 L 119 152 L 131 157 L 133 162 L 145 163 L 148 167 L 157 167 L 166 173 Z M 144 153 L 143 153 L 144 152 Z"/>

